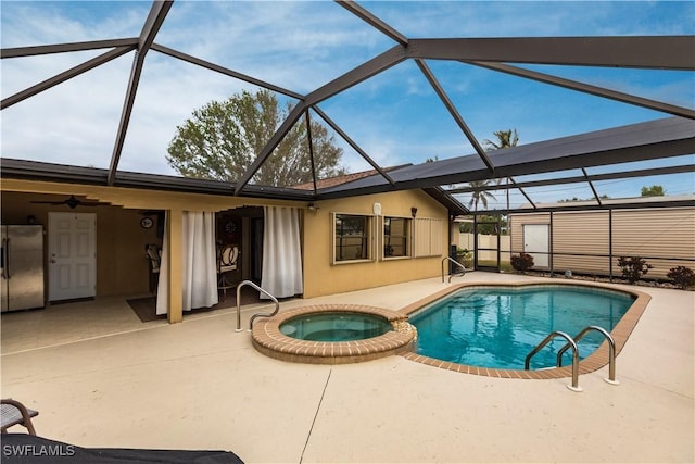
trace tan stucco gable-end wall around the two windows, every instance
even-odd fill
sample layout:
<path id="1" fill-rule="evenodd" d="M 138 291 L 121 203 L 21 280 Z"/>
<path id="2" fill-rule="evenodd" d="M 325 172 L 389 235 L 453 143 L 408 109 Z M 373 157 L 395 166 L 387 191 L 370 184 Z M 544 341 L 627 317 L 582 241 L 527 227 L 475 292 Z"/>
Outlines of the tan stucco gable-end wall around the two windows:
<path id="1" fill-rule="evenodd" d="M 331 264 L 332 214 L 372 215 L 374 204 L 381 204 L 382 216 L 410 217 L 417 208 L 418 218 L 441 218 L 442 254 Z M 419 190 L 370 195 L 315 203 L 317 211 L 304 214 L 304 297 L 313 298 L 363 288 L 403 283 L 441 275 L 441 262 L 448 249 L 447 210 Z"/>

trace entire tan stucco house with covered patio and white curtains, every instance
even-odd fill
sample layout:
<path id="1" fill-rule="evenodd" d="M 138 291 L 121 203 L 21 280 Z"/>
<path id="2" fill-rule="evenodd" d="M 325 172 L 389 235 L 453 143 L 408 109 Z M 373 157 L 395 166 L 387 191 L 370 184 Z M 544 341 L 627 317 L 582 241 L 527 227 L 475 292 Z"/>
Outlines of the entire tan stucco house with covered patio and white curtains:
<path id="1" fill-rule="evenodd" d="M 20 163 L 23 167 L 27 163 L 40 165 Z M 166 302 L 169 322 L 181 321 L 184 310 L 189 309 L 186 300 L 191 286 L 192 291 L 197 286 L 215 287 L 210 281 L 217 278 L 216 274 L 202 271 L 186 277 L 185 266 L 191 260 L 187 237 L 192 227 L 186 217 L 192 213 L 213 215 L 218 247 L 225 242 L 238 247 L 236 281 L 249 279 L 264 286 L 264 259 L 282 265 L 299 253 L 299 276 L 278 271 L 281 286 L 285 280 L 300 280 L 289 290 L 291 294 L 280 297 L 311 298 L 440 275 L 452 241 L 450 218 L 465 212 L 453 197 L 439 189 L 300 201 L 268 198 L 268 188 L 258 198 L 237 197 L 215 192 L 211 181 L 178 177 L 139 175 L 138 186 L 104 186 L 89 184 L 90 175 L 99 175 L 99 170 L 93 168 L 66 167 L 79 172 L 73 173 L 74 178 L 48 180 L 37 179 L 40 175 L 36 173 L 33 179 L 13 176 L 12 160 L 3 160 L 3 167 L 2 224 L 43 225 L 47 304 L 154 292 Z M 61 172 L 56 165 L 45 167 L 50 167 L 53 177 Z M 354 178 L 352 174 L 329 184 Z M 282 190 L 285 198 L 292 197 L 288 189 Z M 303 195 L 301 186 L 296 192 Z M 78 202 L 70 204 L 66 200 L 73 196 Z M 280 234 L 279 244 L 264 242 L 267 215 L 275 210 L 291 211 L 296 218 L 299 248 L 287 242 L 286 233 Z M 77 225 L 63 234 L 58 220 L 64 216 L 90 225 Z M 70 235 L 91 236 L 75 241 Z M 72 246 L 65 246 L 65 240 L 73 240 Z M 162 263 L 166 265 L 156 276 L 164 285 L 152 281 L 148 246 L 156 246 L 164 253 Z M 207 250 L 214 261 L 214 251 L 210 252 L 214 248 Z M 68 269 L 70 265 L 61 265 L 62 255 L 81 252 L 91 254 L 93 260 L 83 263 L 77 259 L 73 271 L 63 275 L 61 269 Z"/>

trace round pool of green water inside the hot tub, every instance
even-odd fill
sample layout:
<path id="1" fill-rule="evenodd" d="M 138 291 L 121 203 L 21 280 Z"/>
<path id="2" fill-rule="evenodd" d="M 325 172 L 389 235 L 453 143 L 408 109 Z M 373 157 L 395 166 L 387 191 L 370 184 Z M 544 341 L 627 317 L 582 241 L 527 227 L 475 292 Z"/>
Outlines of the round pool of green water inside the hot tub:
<path id="1" fill-rule="evenodd" d="M 305 314 L 280 325 L 283 335 L 309 341 L 364 340 L 392 329 L 393 326 L 383 317 L 351 312 Z"/>

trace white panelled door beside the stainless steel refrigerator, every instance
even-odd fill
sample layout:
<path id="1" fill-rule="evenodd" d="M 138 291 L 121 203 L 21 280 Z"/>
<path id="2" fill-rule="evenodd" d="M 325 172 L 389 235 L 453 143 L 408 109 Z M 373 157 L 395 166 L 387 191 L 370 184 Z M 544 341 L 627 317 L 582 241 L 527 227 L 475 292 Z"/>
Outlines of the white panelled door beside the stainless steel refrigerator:
<path id="1" fill-rule="evenodd" d="M 97 294 L 97 215 L 49 213 L 49 301 Z"/>

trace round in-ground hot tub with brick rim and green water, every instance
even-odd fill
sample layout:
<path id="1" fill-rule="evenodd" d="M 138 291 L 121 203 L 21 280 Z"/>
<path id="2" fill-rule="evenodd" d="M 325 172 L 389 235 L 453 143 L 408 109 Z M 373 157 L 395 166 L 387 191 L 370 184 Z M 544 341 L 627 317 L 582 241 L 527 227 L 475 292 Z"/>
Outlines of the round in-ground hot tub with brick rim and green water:
<path id="1" fill-rule="evenodd" d="M 253 346 L 282 361 L 346 364 L 410 351 L 416 338 L 407 315 L 353 304 L 305 306 L 258 321 Z"/>

